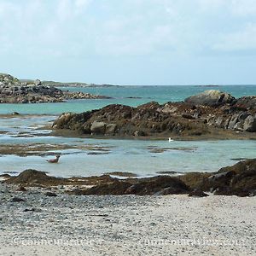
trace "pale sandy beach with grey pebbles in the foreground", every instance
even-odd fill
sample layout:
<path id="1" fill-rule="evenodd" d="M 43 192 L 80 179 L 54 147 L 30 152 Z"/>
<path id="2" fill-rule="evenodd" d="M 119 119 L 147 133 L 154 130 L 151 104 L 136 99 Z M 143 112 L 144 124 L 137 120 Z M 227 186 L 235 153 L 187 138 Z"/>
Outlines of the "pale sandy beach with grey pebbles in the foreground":
<path id="1" fill-rule="evenodd" d="M 45 195 L 0 185 L 1 255 L 255 255 L 256 197 Z M 24 201 L 15 202 L 13 198 Z"/>

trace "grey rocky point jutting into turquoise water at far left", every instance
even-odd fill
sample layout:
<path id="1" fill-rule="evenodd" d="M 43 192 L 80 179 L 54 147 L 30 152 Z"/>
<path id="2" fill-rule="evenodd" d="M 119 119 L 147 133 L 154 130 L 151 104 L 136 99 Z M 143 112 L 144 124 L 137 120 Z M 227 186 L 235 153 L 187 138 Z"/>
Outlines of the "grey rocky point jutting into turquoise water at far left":
<path id="1" fill-rule="evenodd" d="M 9 74 L 0 74 L 0 103 L 49 103 L 77 99 L 106 99 L 90 93 L 71 92 L 44 85 L 40 80 L 21 82 Z"/>

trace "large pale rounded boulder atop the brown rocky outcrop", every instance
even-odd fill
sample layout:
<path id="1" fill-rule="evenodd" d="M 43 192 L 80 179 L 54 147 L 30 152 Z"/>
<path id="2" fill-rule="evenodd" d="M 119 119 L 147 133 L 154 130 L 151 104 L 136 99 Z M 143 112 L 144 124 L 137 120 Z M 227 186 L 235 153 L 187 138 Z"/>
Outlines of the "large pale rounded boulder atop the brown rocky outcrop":
<path id="1" fill-rule="evenodd" d="M 189 96 L 185 102 L 193 105 L 207 105 L 207 106 L 220 106 L 231 103 L 235 97 L 220 90 L 206 90 L 198 95 Z"/>

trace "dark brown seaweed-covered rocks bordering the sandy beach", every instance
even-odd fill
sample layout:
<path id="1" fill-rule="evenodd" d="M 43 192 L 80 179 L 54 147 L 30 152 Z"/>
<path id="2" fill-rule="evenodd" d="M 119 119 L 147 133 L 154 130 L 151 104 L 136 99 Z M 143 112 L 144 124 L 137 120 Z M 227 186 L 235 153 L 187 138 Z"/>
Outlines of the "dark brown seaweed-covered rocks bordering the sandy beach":
<path id="1" fill-rule="evenodd" d="M 256 195 L 256 159 L 244 160 L 218 172 L 189 172 L 176 177 L 51 177 L 45 172 L 26 170 L 17 177 L 3 174 L 3 182 L 26 191 L 30 187 L 51 188 L 69 195 Z M 55 194 L 56 196 L 56 194 Z"/>

